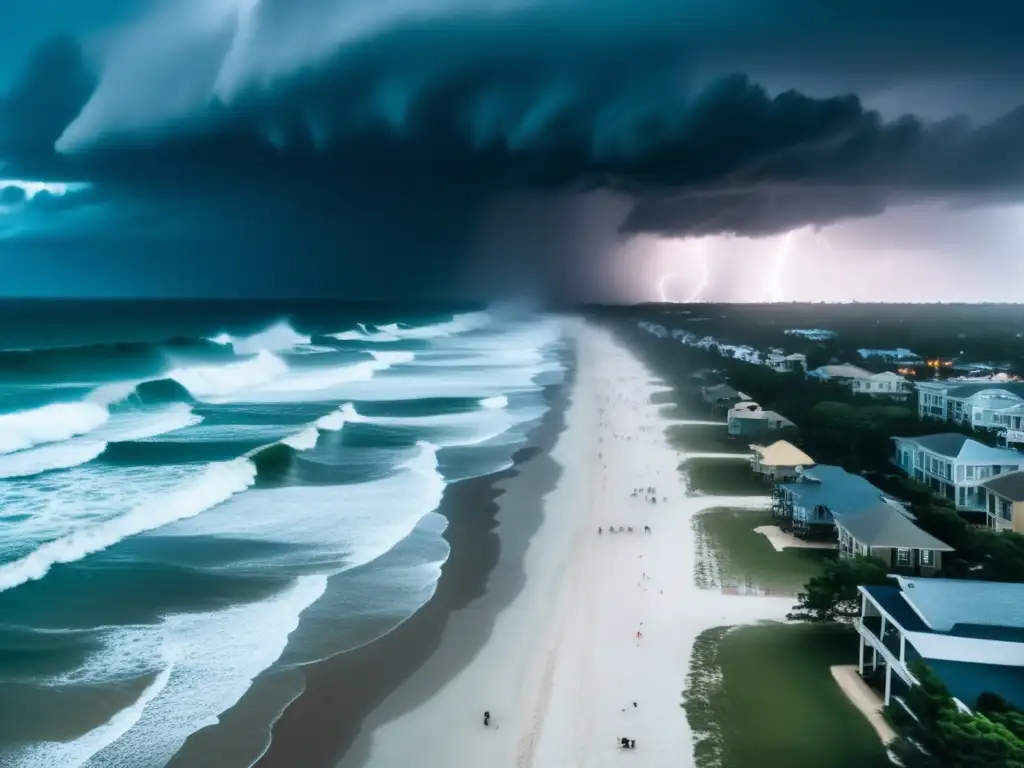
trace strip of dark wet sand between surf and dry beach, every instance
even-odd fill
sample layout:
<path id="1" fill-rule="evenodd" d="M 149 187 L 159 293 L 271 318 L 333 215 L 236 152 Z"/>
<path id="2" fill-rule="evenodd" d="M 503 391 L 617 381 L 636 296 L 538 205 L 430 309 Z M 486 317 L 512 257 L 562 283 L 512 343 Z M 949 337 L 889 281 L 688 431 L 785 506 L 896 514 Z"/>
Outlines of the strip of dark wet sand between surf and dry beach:
<path id="1" fill-rule="evenodd" d="M 364 765 L 364 732 L 380 719 L 414 709 L 465 666 L 490 635 L 502 609 L 522 589 L 523 553 L 541 525 L 540 499 L 561 468 L 551 449 L 565 428 L 575 376 L 552 387 L 551 408 L 513 456 L 513 466 L 446 486 L 438 514 L 451 552 L 433 596 L 389 633 L 359 648 L 286 674 L 301 676 L 301 692 L 274 720 L 255 768 Z M 501 536 L 497 528 L 503 528 Z M 453 616 L 471 612 L 458 648 L 442 645 Z M 429 667 L 429 674 L 411 680 Z"/>

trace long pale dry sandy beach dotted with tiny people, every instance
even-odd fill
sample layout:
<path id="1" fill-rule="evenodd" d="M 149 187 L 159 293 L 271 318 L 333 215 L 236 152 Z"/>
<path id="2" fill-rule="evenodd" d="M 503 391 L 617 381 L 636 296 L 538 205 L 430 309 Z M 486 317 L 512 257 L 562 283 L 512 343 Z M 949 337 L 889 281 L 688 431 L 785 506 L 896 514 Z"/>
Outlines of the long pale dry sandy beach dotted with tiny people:
<path id="1" fill-rule="evenodd" d="M 522 590 L 461 671 L 421 706 L 387 720 L 371 716 L 341 765 L 692 765 L 680 705 L 697 635 L 778 620 L 792 607 L 787 597 L 695 586 L 693 516 L 765 500 L 687 495 L 677 469 L 686 457 L 668 444 L 669 422 L 651 402 L 664 385 L 609 332 L 568 327 L 577 379 L 552 452 L 563 471 L 543 500 Z M 418 678 L 435 676 L 473 610 L 470 603 L 453 615 L 438 652 L 382 711 Z M 618 746 L 621 737 L 636 749 Z"/>

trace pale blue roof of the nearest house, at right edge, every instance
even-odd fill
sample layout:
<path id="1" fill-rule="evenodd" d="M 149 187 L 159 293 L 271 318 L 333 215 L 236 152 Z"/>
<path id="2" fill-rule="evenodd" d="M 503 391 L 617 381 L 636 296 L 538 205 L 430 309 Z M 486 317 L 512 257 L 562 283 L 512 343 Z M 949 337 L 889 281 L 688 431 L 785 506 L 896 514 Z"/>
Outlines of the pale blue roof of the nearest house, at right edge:
<path id="1" fill-rule="evenodd" d="M 978 625 L 1014 628 L 1024 633 L 1024 584 L 968 579 L 895 579 L 903 591 L 903 598 L 913 605 L 934 632 L 950 632 L 958 625 Z M 1024 642 L 1024 634 L 1020 642 Z"/>

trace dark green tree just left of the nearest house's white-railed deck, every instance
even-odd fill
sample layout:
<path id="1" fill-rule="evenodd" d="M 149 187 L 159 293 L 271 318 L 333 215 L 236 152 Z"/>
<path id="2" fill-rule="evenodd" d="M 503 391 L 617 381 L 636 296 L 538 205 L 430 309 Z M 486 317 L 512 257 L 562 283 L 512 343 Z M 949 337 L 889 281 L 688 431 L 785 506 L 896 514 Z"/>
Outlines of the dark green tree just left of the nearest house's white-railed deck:
<path id="1" fill-rule="evenodd" d="M 851 557 L 825 565 L 812 578 L 797 599 L 791 622 L 838 622 L 860 615 L 857 587 L 889 584 L 889 567 L 877 557 Z"/>

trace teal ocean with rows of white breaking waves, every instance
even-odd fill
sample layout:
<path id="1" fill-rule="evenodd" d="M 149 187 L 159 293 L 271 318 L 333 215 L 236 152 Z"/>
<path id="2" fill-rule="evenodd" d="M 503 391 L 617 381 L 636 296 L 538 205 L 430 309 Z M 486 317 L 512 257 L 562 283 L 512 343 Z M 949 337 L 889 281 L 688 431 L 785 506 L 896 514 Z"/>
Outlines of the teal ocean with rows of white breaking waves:
<path id="1" fill-rule="evenodd" d="M 399 625 L 565 360 L 510 306 L 0 302 L 0 766 L 167 765 Z"/>

